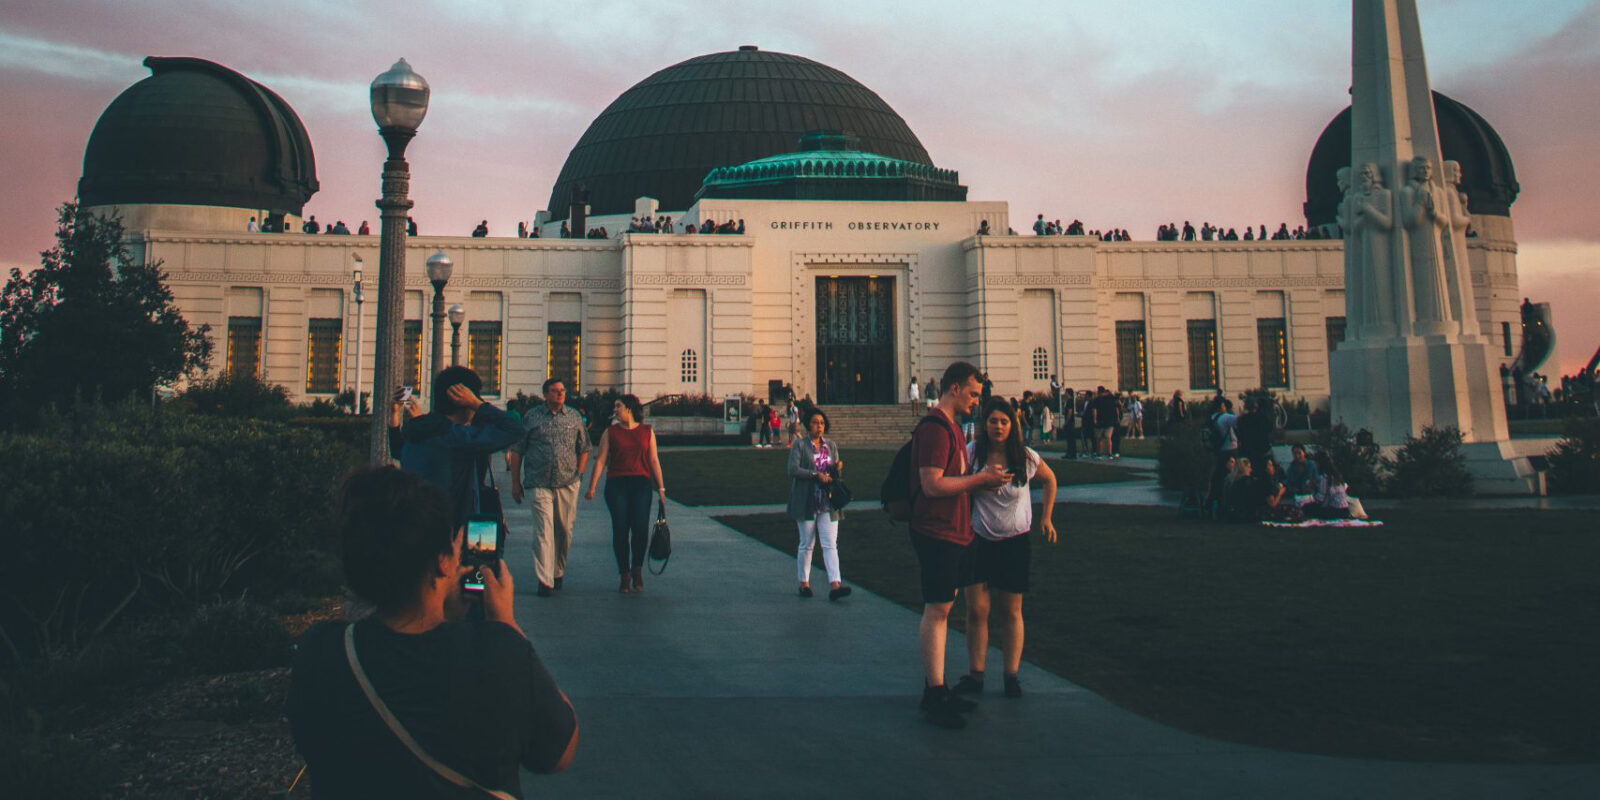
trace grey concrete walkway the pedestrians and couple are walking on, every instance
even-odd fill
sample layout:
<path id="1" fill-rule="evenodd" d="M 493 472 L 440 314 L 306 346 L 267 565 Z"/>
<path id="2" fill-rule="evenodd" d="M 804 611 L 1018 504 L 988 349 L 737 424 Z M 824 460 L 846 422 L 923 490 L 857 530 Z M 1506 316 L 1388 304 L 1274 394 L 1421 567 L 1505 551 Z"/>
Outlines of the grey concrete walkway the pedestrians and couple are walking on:
<path id="1" fill-rule="evenodd" d="M 933 728 L 917 714 L 915 613 L 859 587 L 797 598 L 792 555 L 675 504 L 666 574 L 619 595 L 598 501 L 579 507 L 566 587 L 539 598 L 530 510 L 506 494 L 517 618 L 582 731 L 571 770 L 523 774 L 528 797 L 1600 797 L 1600 765 L 1368 762 L 1190 736 L 1029 664 L 1026 698 L 986 694 L 965 731 Z M 949 656 L 965 672 L 954 632 Z"/>

